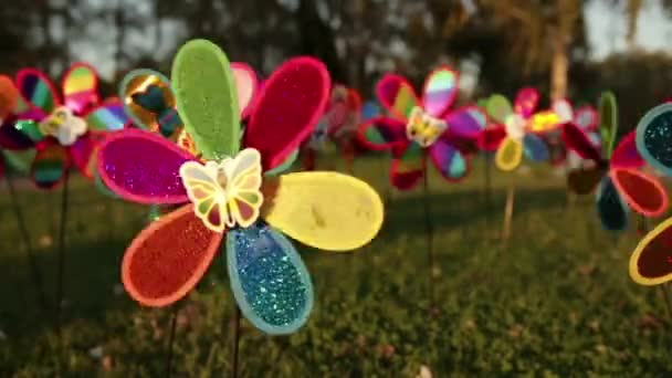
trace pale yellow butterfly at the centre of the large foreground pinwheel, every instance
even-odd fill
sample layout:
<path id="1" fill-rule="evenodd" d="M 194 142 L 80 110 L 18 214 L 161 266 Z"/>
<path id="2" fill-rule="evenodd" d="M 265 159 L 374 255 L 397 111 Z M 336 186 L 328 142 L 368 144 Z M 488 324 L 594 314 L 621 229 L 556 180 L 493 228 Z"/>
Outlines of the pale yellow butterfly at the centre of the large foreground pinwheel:
<path id="1" fill-rule="evenodd" d="M 245 148 L 222 161 L 186 161 L 180 178 L 196 216 L 212 231 L 252 225 L 260 214 L 261 155 Z"/>

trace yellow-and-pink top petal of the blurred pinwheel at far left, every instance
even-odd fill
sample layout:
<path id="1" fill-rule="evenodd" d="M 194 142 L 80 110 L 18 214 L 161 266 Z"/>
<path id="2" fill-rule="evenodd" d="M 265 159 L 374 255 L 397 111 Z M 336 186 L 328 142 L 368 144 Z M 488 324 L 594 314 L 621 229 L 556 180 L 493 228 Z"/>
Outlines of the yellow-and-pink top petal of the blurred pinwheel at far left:
<path id="1" fill-rule="evenodd" d="M 75 63 L 63 77 L 63 99 L 74 114 L 82 115 L 101 102 L 98 73 L 86 63 Z"/>

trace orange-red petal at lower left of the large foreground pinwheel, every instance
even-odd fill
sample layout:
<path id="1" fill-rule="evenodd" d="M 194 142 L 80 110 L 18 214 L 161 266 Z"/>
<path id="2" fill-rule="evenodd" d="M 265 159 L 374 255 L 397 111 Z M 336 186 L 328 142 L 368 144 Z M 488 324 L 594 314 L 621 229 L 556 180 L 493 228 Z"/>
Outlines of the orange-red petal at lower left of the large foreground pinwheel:
<path id="1" fill-rule="evenodd" d="M 222 241 L 183 206 L 143 230 L 126 250 L 122 281 L 146 306 L 170 305 L 201 280 Z"/>

